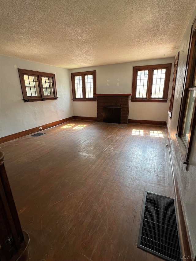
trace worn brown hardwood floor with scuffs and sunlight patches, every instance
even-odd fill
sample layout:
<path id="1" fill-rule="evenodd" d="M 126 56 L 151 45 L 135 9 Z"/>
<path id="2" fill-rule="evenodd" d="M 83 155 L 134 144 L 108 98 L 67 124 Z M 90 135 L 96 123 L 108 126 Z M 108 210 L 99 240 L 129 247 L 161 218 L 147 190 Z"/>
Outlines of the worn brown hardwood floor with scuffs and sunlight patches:
<path id="1" fill-rule="evenodd" d="M 174 197 L 165 126 L 43 132 L 0 145 L 30 260 L 162 260 L 136 245 L 145 190 Z"/>

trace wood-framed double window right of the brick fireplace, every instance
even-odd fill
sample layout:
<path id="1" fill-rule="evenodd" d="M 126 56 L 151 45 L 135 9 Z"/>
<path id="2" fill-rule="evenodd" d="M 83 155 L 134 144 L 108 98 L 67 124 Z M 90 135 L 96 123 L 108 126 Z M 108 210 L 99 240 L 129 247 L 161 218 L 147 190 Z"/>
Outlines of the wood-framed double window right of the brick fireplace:
<path id="1" fill-rule="evenodd" d="M 133 68 L 132 102 L 167 102 L 171 63 Z"/>

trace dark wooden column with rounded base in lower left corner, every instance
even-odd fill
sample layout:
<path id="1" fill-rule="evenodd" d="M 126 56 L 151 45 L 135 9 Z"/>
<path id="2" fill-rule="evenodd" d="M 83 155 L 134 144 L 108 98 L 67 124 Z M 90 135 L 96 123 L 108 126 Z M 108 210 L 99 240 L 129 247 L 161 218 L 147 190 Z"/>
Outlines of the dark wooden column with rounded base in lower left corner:
<path id="1" fill-rule="evenodd" d="M 24 237 L 25 236 L 25 237 Z M 0 151 L 0 260 L 27 260 L 29 237 L 23 233 Z M 25 257 L 26 255 L 26 257 Z"/>

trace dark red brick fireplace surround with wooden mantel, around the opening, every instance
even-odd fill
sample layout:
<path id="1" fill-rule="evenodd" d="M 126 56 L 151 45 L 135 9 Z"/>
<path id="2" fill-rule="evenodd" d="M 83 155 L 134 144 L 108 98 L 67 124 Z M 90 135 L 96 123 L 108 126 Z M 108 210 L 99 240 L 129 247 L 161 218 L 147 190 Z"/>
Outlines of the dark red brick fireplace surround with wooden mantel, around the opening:
<path id="1" fill-rule="evenodd" d="M 104 108 L 120 108 L 120 123 L 128 124 L 129 96 L 131 94 L 96 94 L 97 121 L 104 122 Z"/>

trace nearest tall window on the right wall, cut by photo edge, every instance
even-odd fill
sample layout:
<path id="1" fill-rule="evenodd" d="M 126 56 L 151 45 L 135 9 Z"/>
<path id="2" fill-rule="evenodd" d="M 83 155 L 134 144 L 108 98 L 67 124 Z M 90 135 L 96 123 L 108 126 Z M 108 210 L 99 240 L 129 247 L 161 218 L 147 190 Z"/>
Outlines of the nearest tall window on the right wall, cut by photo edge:
<path id="1" fill-rule="evenodd" d="M 177 135 L 186 148 L 188 162 L 196 125 L 196 20 L 192 26 L 187 76 L 180 108 Z"/>

